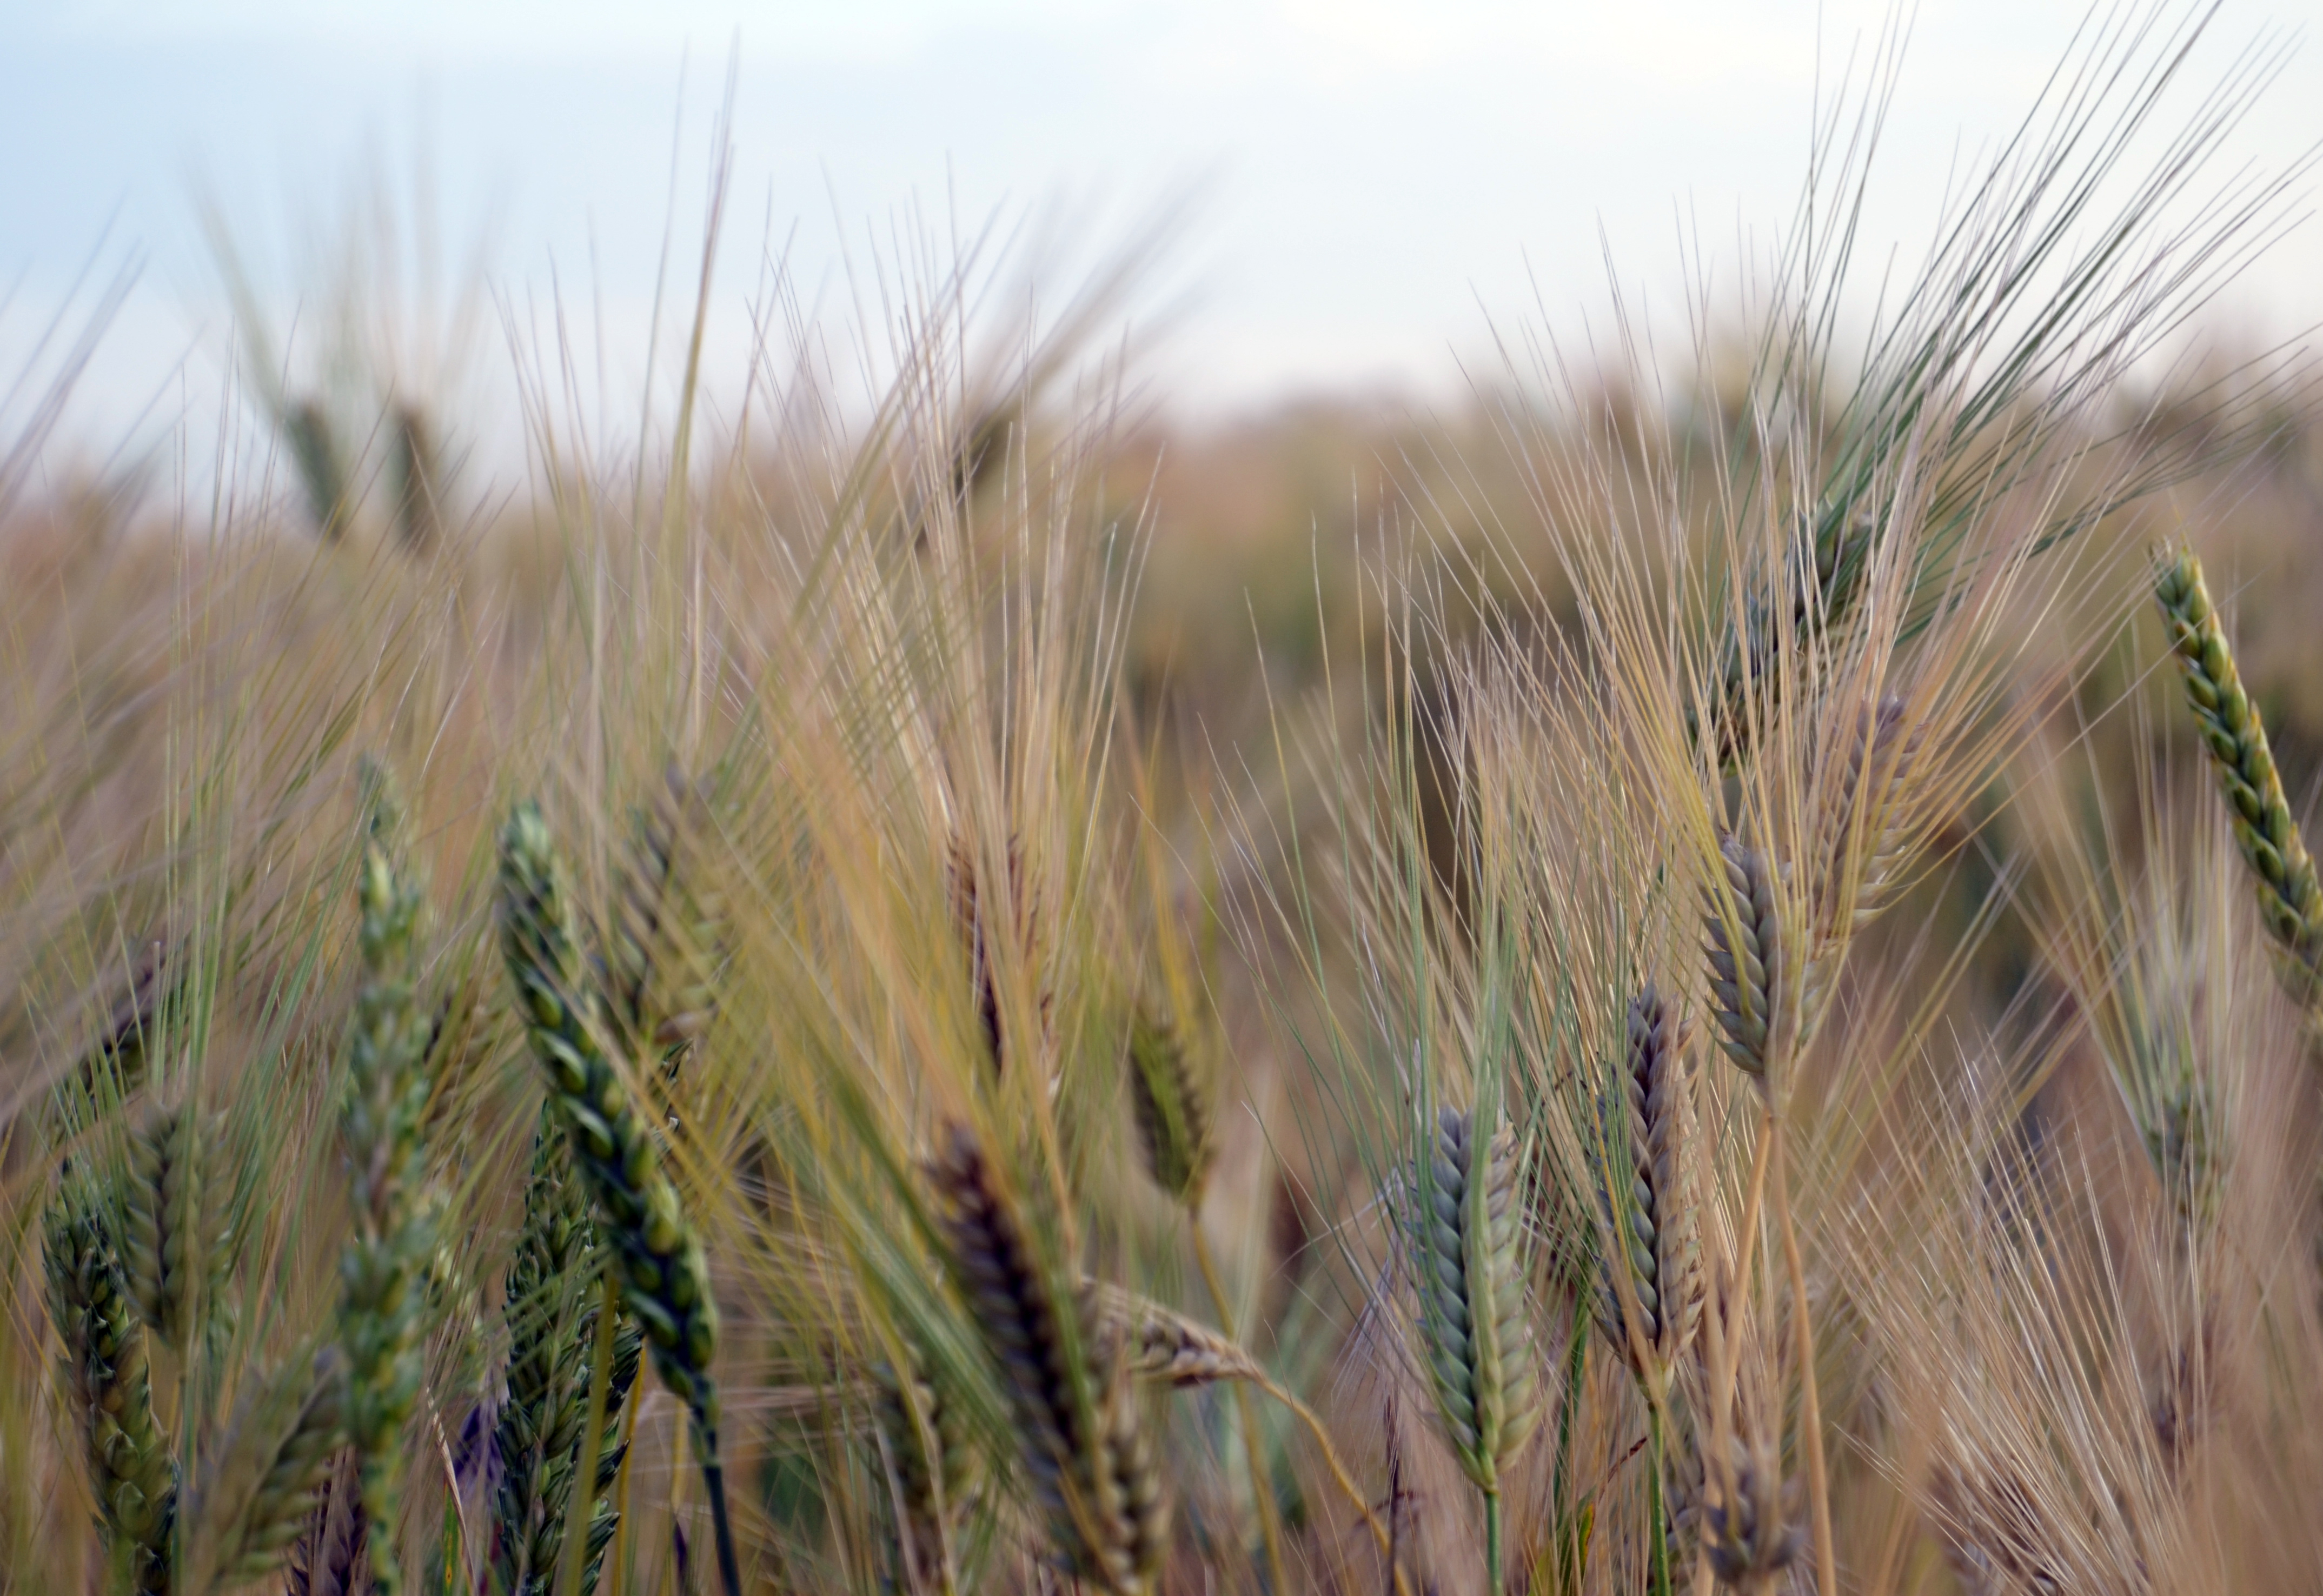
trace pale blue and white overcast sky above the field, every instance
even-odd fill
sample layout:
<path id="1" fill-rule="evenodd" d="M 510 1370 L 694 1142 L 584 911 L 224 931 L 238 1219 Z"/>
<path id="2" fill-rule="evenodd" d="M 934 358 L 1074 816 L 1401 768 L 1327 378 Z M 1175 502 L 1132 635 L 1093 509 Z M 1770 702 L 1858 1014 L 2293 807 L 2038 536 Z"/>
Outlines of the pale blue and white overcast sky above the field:
<path id="1" fill-rule="evenodd" d="M 2228 0 L 2211 70 L 2270 30 L 2295 42 L 2318 5 Z M 1682 230 L 1712 269 L 1745 235 L 1763 246 L 1796 202 L 1819 84 L 1828 100 L 1886 16 L 1879 0 L 0 0 L 0 288 L 19 283 L 0 360 L 112 228 L 109 258 L 135 251 L 144 274 L 93 411 L 118 418 L 186 351 L 197 386 L 225 342 L 197 195 L 262 290 L 295 295 L 367 163 L 409 200 L 420 151 L 446 253 L 483 239 L 497 288 L 539 293 L 555 269 L 641 328 L 671 193 L 692 269 L 734 58 L 736 304 L 769 230 L 801 295 L 832 300 L 841 239 L 892 253 L 911 216 L 948 232 L 1062 197 L 1103 244 L 1192 188 L 1150 295 L 1187 290 L 1155 365 L 1175 404 L 1429 397 L 1487 348 L 1487 314 L 1533 316 L 1536 290 L 1552 321 L 1603 307 L 1608 253 L 1675 307 Z M 2079 0 L 1914 9 L 1879 225 L 1926 237 L 1947 170 L 2016 123 L 2081 16 Z M 2281 165 L 2318 137 L 2323 51 L 2297 46 L 2237 151 Z M 2316 235 L 2244 283 L 2237 328 L 2323 316 Z M 499 346 L 497 323 L 486 337 Z"/>

